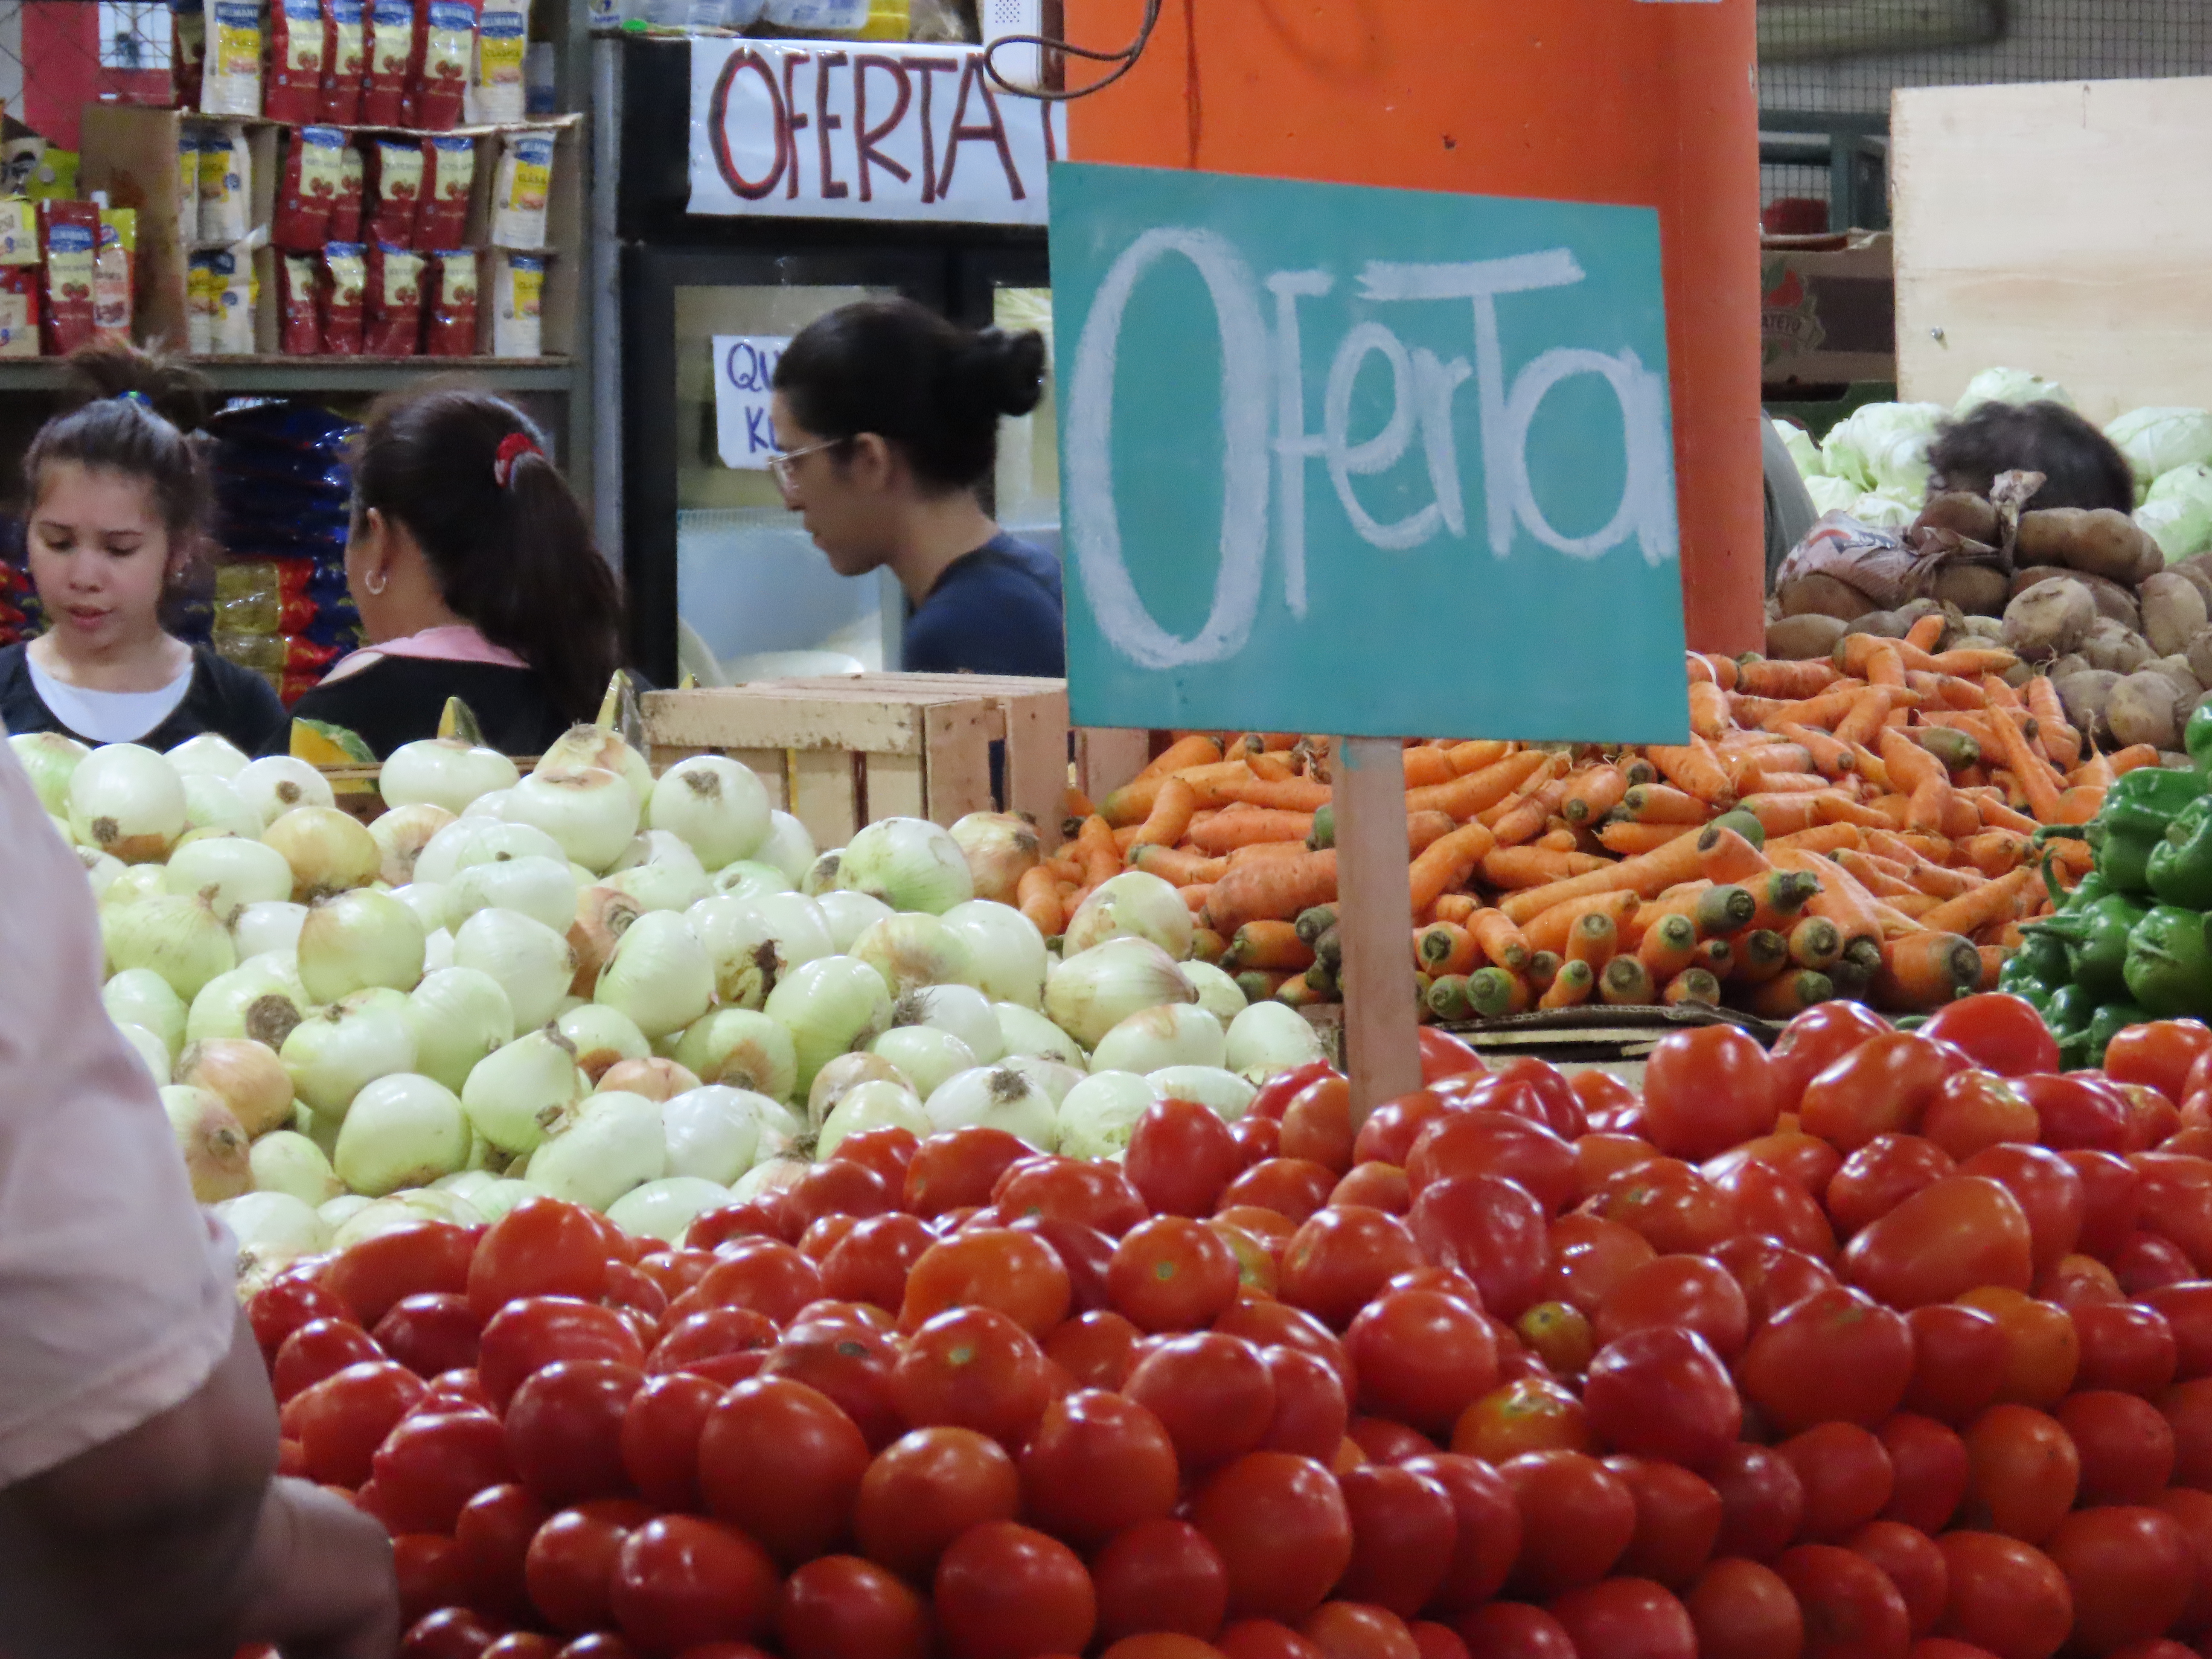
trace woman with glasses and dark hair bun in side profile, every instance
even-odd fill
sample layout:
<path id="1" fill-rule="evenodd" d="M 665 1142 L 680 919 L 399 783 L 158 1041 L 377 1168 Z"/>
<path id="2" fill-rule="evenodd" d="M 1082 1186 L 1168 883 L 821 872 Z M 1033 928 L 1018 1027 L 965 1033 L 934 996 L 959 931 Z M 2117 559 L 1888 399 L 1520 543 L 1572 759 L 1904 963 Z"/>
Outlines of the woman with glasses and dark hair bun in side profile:
<path id="1" fill-rule="evenodd" d="M 838 575 L 898 577 L 907 670 L 1066 672 L 1060 564 L 978 495 L 1000 416 L 1029 414 L 1042 392 L 1035 332 L 975 334 L 902 299 L 830 312 L 776 365 L 783 500 Z"/>

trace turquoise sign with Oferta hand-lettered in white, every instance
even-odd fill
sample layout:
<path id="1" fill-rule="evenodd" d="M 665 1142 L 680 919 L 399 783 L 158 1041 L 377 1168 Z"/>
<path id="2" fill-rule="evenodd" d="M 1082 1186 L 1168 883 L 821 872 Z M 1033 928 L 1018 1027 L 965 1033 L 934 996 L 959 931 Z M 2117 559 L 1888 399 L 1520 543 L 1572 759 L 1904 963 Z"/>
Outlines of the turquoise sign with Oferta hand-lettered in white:
<path id="1" fill-rule="evenodd" d="M 1077 721 L 1686 741 L 1655 212 L 1051 197 Z"/>

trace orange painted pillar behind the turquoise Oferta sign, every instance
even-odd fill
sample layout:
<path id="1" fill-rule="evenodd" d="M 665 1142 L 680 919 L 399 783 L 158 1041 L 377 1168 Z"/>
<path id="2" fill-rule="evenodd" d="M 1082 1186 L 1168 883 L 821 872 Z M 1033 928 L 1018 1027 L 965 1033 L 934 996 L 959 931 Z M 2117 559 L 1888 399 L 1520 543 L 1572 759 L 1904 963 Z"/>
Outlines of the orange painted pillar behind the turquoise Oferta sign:
<path id="1" fill-rule="evenodd" d="M 1079 161 L 1659 210 L 1690 646 L 1765 635 L 1754 0 L 1164 0 Z M 1144 0 L 1068 0 L 1124 44 Z M 1071 64 L 1071 77 L 1086 71 Z"/>

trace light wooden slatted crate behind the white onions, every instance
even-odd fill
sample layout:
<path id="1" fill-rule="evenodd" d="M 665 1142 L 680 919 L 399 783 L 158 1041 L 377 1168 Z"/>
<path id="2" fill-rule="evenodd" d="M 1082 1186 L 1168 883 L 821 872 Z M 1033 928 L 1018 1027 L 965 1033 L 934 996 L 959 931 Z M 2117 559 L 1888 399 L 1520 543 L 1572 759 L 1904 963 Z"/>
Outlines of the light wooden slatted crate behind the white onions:
<path id="1" fill-rule="evenodd" d="M 821 847 L 843 847 L 876 818 L 949 825 L 991 810 L 1026 812 L 1046 847 L 1060 843 L 1068 787 L 1068 688 L 1062 679 L 768 679 L 648 692 L 644 712 L 655 772 L 688 754 L 743 761 Z M 1144 765 L 1144 734 L 1128 734 L 1135 745 L 1121 737 L 1086 734 L 1077 743 L 1082 776 L 1110 787 Z M 1006 752 L 1004 799 L 991 792 L 993 743 L 1004 743 Z"/>

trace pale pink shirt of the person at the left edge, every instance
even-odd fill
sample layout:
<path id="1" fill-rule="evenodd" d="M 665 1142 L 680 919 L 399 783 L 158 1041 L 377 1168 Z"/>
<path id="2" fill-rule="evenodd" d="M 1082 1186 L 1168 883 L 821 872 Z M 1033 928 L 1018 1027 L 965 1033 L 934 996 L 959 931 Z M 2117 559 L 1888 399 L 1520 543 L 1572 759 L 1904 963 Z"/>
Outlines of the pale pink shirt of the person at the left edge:
<path id="1" fill-rule="evenodd" d="M 0 1486 L 168 1411 L 237 1321 L 230 1252 L 100 1002 L 91 885 L 0 743 Z"/>

